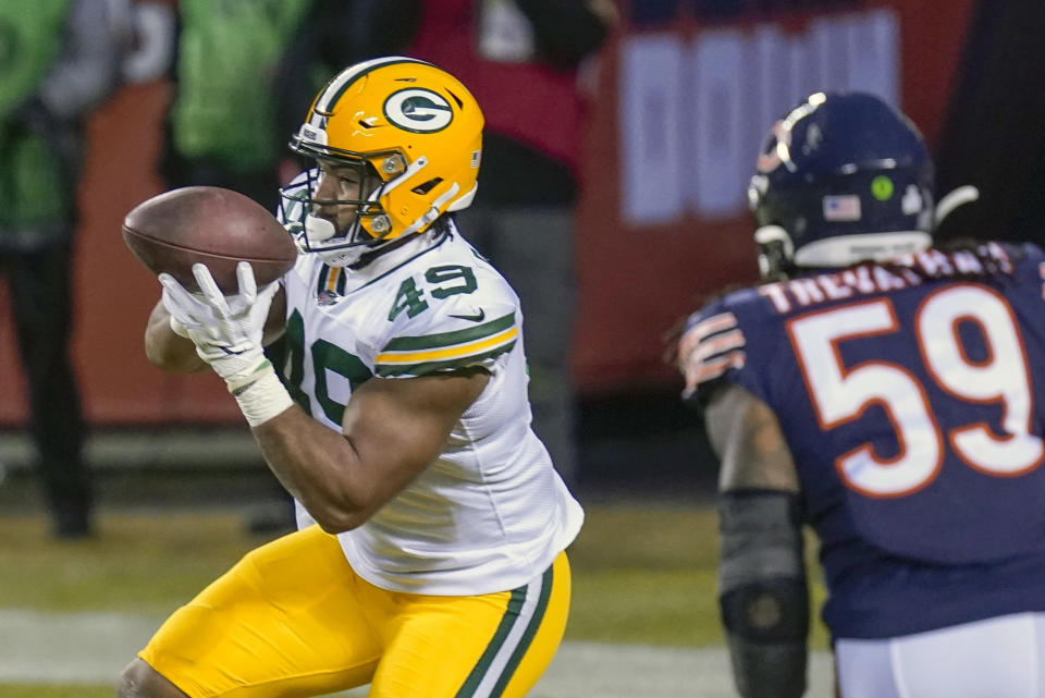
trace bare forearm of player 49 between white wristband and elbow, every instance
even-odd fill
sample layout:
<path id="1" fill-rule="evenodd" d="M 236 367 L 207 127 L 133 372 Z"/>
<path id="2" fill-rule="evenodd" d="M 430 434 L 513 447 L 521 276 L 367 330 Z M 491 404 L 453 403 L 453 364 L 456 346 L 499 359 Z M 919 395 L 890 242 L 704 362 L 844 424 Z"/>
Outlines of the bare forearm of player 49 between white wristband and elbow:
<path id="1" fill-rule="evenodd" d="M 330 534 L 351 530 L 378 509 L 358 454 L 344 434 L 298 407 L 253 428 L 269 468 Z"/>

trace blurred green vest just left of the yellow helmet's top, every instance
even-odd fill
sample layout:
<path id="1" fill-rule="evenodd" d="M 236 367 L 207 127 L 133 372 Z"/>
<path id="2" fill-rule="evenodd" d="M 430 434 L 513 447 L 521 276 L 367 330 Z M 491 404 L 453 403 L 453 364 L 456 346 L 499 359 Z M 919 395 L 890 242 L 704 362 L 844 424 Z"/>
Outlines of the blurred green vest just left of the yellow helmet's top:
<path id="1" fill-rule="evenodd" d="M 181 158 L 230 172 L 275 168 L 281 61 L 312 0 L 180 0 L 177 99 L 171 136 Z M 303 79 L 307 78 L 303 69 Z"/>

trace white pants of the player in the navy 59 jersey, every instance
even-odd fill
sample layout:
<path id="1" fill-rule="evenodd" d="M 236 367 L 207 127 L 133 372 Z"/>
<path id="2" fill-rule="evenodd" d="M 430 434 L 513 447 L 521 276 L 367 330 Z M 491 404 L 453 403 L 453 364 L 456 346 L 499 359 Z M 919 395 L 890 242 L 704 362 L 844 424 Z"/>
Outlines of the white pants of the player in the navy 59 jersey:
<path id="1" fill-rule="evenodd" d="M 840 698 L 1045 698 L 1045 613 L 835 642 Z"/>

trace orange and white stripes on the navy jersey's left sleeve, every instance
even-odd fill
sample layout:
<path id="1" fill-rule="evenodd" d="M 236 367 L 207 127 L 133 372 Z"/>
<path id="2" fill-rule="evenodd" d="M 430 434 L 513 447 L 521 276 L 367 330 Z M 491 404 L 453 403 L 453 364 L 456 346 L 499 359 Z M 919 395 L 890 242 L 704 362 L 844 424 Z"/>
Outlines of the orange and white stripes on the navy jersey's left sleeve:
<path id="1" fill-rule="evenodd" d="M 742 367 L 747 360 L 745 344 L 733 313 L 694 322 L 678 342 L 678 368 L 686 377 L 683 394 L 688 397 L 701 383 L 718 378 L 726 369 Z"/>

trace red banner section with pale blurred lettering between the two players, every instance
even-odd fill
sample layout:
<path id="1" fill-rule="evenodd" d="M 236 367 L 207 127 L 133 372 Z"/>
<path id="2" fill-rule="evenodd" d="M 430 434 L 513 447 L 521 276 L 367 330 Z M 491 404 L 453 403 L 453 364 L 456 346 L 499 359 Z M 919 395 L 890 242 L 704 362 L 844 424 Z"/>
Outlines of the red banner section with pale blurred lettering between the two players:
<path id="1" fill-rule="evenodd" d="M 701 297 L 757 278 L 747 180 L 770 124 L 802 97 L 874 91 L 934 143 L 972 0 L 827 4 L 706 24 L 679 10 L 606 51 L 579 210 L 582 390 L 678 382 L 663 336 Z"/>

